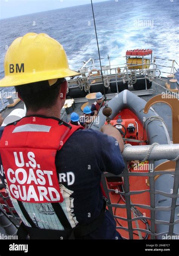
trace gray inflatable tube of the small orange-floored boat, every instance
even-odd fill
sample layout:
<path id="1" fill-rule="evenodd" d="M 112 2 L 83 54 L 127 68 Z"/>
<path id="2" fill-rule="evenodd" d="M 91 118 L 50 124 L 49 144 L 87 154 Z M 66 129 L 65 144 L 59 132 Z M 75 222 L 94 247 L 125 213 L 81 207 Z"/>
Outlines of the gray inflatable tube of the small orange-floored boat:
<path id="1" fill-rule="evenodd" d="M 116 95 L 111 101 L 108 102 L 108 106 L 112 108 L 113 113 L 110 116 L 113 119 L 120 110 L 124 108 L 130 109 L 140 120 L 142 124 L 150 116 L 158 116 L 158 114 L 150 107 L 147 114 L 143 112 L 146 105 L 144 99 L 139 98 L 128 90 L 122 91 L 120 94 Z M 100 130 L 103 124 L 106 121 L 106 117 L 103 116 L 102 109 L 99 112 L 99 124 L 93 123 L 91 128 L 94 130 Z M 164 122 L 154 120 L 149 123 L 149 120 L 145 122 L 145 129 L 147 126 L 147 138 L 149 144 L 157 142 L 159 144 L 171 144 L 170 136 L 168 134 L 167 127 Z M 160 163 L 165 162 L 167 159 L 162 159 L 155 161 L 154 167 L 158 166 Z M 173 177 L 171 174 L 161 175 L 155 182 L 155 190 L 162 192 L 170 193 L 170 189 L 173 188 Z M 177 199 L 178 201 L 178 199 Z M 167 198 L 162 195 L 155 196 L 155 205 L 156 206 L 171 206 L 171 198 Z M 170 211 L 156 211 L 156 220 L 170 221 Z M 178 218 L 179 207 L 175 211 L 175 220 Z M 168 225 L 156 225 L 156 233 L 160 234 L 163 232 L 168 232 Z M 174 226 L 174 233 L 179 233 L 179 224 Z M 157 239 L 161 239 L 161 236 L 158 236 Z"/>

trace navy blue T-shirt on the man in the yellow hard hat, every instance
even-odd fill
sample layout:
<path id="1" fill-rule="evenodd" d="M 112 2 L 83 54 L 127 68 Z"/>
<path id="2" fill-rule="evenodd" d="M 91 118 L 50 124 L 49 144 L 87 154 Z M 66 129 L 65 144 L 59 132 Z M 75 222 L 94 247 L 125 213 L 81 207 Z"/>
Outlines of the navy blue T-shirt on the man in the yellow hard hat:
<path id="1" fill-rule="evenodd" d="M 0 137 L 4 127 L 0 127 Z M 2 164 L 0 158 L 0 164 Z M 92 129 L 77 130 L 66 141 L 63 148 L 56 155 L 56 169 L 60 184 L 64 190 L 62 208 L 74 227 L 90 223 L 97 218 L 103 207 L 103 197 L 100 188 L 102 172 L 120 174 L 124 169 L 124 162 L 116 139 Z M 1 177 L 1 176 L 0 176 Z M 3 177 L 1 177 L 3 180 Z M 50 211 L 49 204 L 42 207 L 37 205 L 29 211 L 29 203 L 25 208 L 29 215 L 35 217 L 35 223 L 40 228 L 60 229 L 57 218 L 48 219 L 45 210 Z M 34 205 L 34 204 L 33 204 Z M 41 207 L 41 208 L 40 208 Z M 36 215 L 34 215 L 34 212 Z M 39 219 L 38 219 L 39 218 Z M 53 222 L 56 222 L 54 225 Z M 25 224 L 26 221 L 24 220 Z M 48 223 L 48 225 L 47 225 Z M 48 227 L 47 227 L 48 226 Z M 63 229 L 63 227 L 61 228 Z M 118 234 L 118 233 L 117 233 Z M 103 223 L 90 235 L 89 239 L 116 239 L 116 221 L 110 212 L 106 211 Z"/>

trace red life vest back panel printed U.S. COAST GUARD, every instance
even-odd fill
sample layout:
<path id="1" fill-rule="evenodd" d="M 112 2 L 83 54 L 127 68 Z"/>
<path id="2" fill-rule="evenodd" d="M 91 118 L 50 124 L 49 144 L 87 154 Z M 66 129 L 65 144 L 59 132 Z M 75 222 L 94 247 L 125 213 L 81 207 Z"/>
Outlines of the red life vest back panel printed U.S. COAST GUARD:
<path id="1" fill-rule="evenodd" d="M 82 126 L 58 118 L 27 116 L 5 127 L 0 140 L 8 190 L 28 203 L 61 203 L 56 153 Z"/>

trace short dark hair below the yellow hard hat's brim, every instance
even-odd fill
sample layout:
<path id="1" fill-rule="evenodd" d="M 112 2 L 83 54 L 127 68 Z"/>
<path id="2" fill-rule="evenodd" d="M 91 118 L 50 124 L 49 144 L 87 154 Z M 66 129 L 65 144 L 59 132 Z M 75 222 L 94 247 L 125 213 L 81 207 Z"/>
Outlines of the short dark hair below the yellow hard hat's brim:
<path id="1" fill-rule="evenodd" d="M 65 79 L 58 79 L 56 83 L 49 86 L 48 80 L 25 85 L 15 86 L 20 94 L 27 110 L 38 111 L 41 108 L 51 108 L 56 104 L 59 96 L 60 85 Z"/>

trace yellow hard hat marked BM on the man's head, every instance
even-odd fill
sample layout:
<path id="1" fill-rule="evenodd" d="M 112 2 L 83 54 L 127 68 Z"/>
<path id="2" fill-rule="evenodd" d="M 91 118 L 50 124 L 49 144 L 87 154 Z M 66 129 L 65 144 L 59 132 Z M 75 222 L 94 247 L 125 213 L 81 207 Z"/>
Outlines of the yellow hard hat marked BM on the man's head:
<path id="1" fill-rule="evenodd" d="M 6 52 L 4 69 L 0 87 L 80 75 L 69 69 L 63 46 L 44 33 L 16 38 Z"/>

